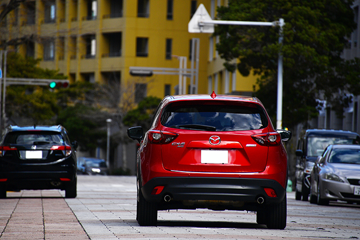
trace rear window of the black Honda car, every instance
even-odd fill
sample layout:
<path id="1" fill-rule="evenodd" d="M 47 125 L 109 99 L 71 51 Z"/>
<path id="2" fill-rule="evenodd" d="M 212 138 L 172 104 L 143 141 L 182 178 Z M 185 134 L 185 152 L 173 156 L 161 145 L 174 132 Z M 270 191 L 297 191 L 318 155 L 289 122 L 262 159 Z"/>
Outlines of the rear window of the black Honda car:
<path id="1" fill-rule="evenodd" d="M 5 144 L 39 145 L 39 144 L 64 144 L 61 134 L 46 131 L 11 132 L 5 139 Z"/>

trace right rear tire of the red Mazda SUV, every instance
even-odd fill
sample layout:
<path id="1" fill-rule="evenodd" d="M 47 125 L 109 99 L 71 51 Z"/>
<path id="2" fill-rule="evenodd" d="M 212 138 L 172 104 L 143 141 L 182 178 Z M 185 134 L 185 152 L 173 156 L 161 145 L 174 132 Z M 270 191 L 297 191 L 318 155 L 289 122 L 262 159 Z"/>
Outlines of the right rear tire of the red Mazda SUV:
<path id="1" fill-rule="evenodd" d="M 284 229 L 286 227 L 286 194 L 280 204 L 269 205 L 266 226 L 270 229 Z"/>

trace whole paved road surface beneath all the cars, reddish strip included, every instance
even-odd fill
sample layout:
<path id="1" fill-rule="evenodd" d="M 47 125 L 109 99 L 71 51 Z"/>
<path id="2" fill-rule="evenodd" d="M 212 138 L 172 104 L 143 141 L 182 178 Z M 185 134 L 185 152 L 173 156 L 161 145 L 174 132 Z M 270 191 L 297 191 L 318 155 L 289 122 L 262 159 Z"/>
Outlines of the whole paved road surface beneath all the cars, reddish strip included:
<path id="1" fill-rule="evenodd" d="M 287 193 L 287 225 L 267 229 L 253 212 L 159 211 L 157 227 L 136 220 L 135 177 L 78 176 L 63 191 L 8 192 L 0 199 L 0 239 L 360 239 L 360 205 L 317 206 Z"/>

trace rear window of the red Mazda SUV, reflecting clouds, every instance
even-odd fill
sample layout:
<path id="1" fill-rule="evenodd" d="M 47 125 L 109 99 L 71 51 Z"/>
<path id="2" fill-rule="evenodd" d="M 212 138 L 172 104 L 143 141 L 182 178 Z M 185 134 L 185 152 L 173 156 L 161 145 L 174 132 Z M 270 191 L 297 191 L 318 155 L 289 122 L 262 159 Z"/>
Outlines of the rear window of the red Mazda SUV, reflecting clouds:
<path id="1" fill-rule="evenodd" d="M 268 126 L 264 110 L 256 105 L 234 105 L 233 102 L 172 103 L 162 112 L 161 124 L 165 127 L 203 131 L 242 131 Z"/>

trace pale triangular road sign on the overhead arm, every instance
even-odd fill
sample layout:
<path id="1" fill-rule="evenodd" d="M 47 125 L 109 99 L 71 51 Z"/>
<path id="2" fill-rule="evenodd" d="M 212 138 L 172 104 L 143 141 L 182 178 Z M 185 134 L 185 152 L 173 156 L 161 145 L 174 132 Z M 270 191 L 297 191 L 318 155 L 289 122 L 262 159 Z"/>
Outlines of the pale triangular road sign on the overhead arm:
<path id="1" fill-rule="evenodd" d="M 200 4 L 188 24 L 188 31 L 191 33 L 213 33 L 214 24 L 201 24 L 202 21 L 211 21 L 211 17 L 203 4 Z M 200 24 L 199 24 L 200 23 Z"/>

